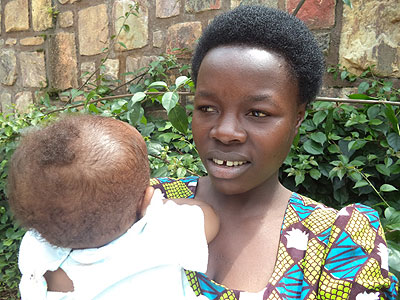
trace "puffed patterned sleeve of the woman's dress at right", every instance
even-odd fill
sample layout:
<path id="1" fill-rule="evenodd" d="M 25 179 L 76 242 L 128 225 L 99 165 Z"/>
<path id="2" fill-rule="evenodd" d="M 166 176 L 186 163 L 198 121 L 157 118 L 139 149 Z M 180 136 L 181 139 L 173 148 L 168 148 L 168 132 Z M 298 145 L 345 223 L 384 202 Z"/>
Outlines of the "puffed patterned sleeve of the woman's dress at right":
<path id="1" fill-rule="evenodd" d="M 332 226 L 319 294 L 395 300 L 397 290 L 398 280 L 389 272 L 388 248 L 378 213 L 362 204 L 340 210 Z"/>

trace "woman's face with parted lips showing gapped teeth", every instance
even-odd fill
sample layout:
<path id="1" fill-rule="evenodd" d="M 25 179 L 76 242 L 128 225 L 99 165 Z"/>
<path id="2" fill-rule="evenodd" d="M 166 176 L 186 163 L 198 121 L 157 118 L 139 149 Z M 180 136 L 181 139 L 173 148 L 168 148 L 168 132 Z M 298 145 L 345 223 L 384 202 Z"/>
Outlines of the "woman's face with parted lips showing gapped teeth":
<path id="1" fill-rule="evenodd" d="M 245 46 L 208 52 L 198 73 L 192 126 L 213 185 L 232 195 L 277 183 L 304 111 L 281 56 Z"/>

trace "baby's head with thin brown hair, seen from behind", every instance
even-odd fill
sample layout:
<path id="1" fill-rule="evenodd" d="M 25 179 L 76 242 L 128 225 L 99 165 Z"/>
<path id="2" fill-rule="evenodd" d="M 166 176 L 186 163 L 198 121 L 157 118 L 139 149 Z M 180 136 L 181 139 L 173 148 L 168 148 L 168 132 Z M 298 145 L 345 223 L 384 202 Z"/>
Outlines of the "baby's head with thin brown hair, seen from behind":
<path id="1" fill-rule="evenodd" d="M 67 116 L 22 137 L 10 162 L 8 196 L 21 225 L 48 242 L 99 247 L 139 218 L 149 177 L 146 145 L 135 128 Z"/>

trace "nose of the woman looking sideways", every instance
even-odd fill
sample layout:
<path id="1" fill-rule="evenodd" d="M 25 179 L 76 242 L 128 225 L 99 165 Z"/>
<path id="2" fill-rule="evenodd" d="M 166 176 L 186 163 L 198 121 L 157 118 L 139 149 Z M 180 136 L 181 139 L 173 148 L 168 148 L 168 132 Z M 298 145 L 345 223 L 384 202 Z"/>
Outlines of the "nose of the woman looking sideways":
<path id="1" fill-rule="evenodd" d="M 225 115 L 212 127 L 210 137 L 224 144 L 244 143 L 247 133 L 236 116 Z"/>

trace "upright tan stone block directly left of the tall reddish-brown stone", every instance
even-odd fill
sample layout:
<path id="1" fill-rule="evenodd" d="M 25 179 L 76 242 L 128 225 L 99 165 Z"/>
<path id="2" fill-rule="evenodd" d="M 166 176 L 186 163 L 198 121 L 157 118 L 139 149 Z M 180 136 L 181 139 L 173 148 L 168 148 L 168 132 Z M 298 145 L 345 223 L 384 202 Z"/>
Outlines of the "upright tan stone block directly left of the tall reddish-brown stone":
<path id="1" fill-rule="evenodd" d="M 19 54 L 23 87 L 45 87 L 46 65 L 43 52 L 21 52 Z"/>

